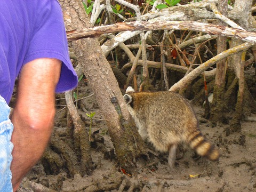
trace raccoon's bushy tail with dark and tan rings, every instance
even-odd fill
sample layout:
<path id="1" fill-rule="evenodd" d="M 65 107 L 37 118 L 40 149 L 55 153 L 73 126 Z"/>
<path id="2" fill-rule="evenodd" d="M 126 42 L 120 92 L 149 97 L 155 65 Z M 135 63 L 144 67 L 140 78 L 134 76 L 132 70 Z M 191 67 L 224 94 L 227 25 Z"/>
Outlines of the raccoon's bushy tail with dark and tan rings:
<path id="1" fill-rule="evenodd" d="M 200 130 L 190 133 L 188 136 L 189 146 L 198 155 L 208 158 L 210 161 L 217 161 L 220 157 L 219 151 L 207 141 Z"/>

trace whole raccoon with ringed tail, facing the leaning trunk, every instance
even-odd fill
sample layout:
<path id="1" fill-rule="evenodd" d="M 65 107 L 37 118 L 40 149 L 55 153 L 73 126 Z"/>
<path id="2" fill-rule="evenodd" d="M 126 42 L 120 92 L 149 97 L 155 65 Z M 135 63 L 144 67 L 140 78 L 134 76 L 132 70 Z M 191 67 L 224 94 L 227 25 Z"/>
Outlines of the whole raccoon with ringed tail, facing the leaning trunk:
<path id="1" fill-rule="evenodd" d="M 142 139 L 153 143 L 161 151 L 169 151 L 168 163 L 174 166 L 177 146 L 185 142 L 198 155 L 211 161 L 219 159 L 219 152 L 206 141 L 189 101 L 170 91 L 134 92 L 128 87 L 124 99 Z"/>

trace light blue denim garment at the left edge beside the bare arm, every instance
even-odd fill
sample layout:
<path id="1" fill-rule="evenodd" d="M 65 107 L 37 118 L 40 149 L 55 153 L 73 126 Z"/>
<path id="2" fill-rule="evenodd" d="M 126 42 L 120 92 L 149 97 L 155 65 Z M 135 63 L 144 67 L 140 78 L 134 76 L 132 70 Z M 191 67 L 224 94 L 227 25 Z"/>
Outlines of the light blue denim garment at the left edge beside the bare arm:
<path id="1" fill-rule="evenodd" d="M 0 95 L 0 191 L 12 191 L 12 173 L 10 165 L 12 162 L 11 136 L 13 124 L 9 119 L 10 107 Z"/>

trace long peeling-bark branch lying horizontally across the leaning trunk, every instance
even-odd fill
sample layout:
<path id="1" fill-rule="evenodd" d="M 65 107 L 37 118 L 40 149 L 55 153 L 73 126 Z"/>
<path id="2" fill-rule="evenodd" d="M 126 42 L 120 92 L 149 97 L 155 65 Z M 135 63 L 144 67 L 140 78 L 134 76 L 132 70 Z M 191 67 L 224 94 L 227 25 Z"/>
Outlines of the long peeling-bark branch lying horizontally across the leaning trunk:
<path id="1" fill-rule="evenodd" d="M 134 21 L 120 22 L 108 26 L 98 26 L 83 30 L 72 30 L 67 32 L 69 41 L 99 36 L 107 33 L 120 31 L 146 31 L 146 30 L 194 30 L 203 31 L 206 34 L 235 37 L 246 42 L 256 43 L 256 33 L 241 29 L 213 25 L 209 23 L 191 21 Z"/>

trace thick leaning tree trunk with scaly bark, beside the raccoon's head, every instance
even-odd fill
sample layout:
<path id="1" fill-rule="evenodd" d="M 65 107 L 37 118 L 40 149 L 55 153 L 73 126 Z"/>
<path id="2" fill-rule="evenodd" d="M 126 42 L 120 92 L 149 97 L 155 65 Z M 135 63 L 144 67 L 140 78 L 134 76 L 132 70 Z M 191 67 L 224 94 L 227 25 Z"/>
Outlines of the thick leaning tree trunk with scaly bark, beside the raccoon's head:
<path id="1" fill-rule="evenodd" d="M 82 3 L 78 0 L 60 0 L 67 30 L 92 27 Z M 89 80 L 99 107 L 106 119 L 114 143 L 119 166 L 135 172 L 135 158 L 145 154 L 146 148 L 127 110 L 122 93 L 103 54 L 97 38 L 86 38 L 71 43 Z"/>

